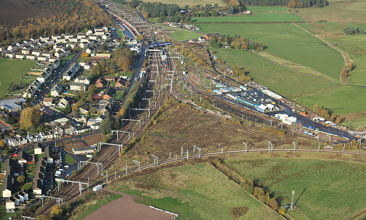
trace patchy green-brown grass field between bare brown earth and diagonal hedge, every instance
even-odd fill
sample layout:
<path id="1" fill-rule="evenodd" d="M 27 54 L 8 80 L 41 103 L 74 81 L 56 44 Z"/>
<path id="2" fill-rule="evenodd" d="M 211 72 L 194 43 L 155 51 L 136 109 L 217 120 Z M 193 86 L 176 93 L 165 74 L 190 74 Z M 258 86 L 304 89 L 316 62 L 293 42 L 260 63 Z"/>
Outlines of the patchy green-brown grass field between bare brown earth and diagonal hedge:
<path id="1" fill-rule="evenodd" d="M 240 206 L 249 208 L 240 220 L 282 219 L 206 164 L 167 168 L 116 182 L 109 188 L 138 195 L 141 199 L 137 201 L 179 213 L 185 220 L 232 220 L 229 208 Z"/>

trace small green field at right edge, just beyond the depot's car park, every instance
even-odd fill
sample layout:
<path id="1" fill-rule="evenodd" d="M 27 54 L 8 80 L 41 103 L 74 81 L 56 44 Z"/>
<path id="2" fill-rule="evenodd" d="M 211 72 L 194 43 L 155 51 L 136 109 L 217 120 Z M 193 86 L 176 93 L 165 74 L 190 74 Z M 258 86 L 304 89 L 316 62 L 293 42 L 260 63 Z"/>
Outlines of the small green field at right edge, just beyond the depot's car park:
<path id="1" fill-rule="evenodd" d="M 315 95 L 297 99 L 302 105 L 312 109 L 314 105 L 325 107 L 336 114 L 346 114 L 366 109 L 366 88 L 342 86 Z M 347 125 L 348 126 L 348 125 Z"/>

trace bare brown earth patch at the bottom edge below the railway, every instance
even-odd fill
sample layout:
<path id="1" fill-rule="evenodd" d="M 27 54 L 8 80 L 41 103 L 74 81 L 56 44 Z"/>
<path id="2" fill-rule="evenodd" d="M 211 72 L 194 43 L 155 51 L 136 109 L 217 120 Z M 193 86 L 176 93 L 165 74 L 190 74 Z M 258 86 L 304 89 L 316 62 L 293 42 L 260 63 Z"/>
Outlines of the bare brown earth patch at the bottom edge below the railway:
<path id="1" fill-rule="evenodd" d="M 168 220 L 173 217 L 173 215 L 169 215 L 168 213 L 158 211 L 142 203 L 135 202 L 134 198 L 128 194 L 114 190 L 104 190 L 120 194 L 123 197 L 103 205 L 97 211 L 91 213 L 82 220 L 100 220 L 101 217 L 107 220 Z"/>

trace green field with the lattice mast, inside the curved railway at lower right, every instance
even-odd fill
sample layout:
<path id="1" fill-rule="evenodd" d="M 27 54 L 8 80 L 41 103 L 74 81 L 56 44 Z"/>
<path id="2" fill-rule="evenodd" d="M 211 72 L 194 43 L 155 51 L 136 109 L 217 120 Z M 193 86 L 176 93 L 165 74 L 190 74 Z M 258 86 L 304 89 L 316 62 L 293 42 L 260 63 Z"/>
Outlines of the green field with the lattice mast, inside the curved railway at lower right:
<path id="1" fill-rule="evenodd" d="M 228 160 L 225 164 L 269 189 L 282 205 L 291 203 L 294 190 L 295 204 L 311 220 L 346 219 L 365 208 L 366 199 L 355 198 L 355 192 L 366 193 L 363 163 L 269 158 Z"/>

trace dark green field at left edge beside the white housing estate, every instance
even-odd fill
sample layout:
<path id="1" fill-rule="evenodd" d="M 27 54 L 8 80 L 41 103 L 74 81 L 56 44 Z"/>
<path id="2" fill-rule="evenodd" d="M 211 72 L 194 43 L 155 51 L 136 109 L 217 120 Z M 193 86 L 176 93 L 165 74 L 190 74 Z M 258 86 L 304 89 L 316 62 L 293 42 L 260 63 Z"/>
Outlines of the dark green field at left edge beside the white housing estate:
<path id="1" fill-rule="evenodd" d="M 0 59 L 0 97 L 5 96 L 11 82 L 18 83 L 37 61 Z"/>

